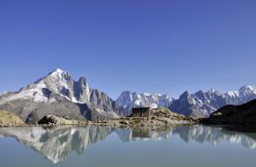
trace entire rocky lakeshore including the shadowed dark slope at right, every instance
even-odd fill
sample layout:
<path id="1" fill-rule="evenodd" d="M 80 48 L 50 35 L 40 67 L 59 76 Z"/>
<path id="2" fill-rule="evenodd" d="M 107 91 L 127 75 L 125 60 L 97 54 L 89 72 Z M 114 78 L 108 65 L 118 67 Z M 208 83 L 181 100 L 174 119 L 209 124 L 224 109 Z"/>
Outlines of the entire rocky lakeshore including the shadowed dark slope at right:
<path id="1" fill-rule="evenodd" d="M 19 116 L 0 110 L 0 127 L 56 127 L 56 126 L 87 126 L 95 125 L 102 127 L 146 127 L 149 129 L 161 127 L 179 127 L 195 124 L 216 125 L 229 128 L 230 130 L 243 132 L 256 132 L 256 100 L 245 105 L 226 105 L 209 118 L 185 117 L 172 113 L 168 108 L 150 109 L 147 117 L 122 117 L 113 120 L 72 120 L 68 116 L 57 117 L 46 115 L 36 124 L 26 124 Z"/>

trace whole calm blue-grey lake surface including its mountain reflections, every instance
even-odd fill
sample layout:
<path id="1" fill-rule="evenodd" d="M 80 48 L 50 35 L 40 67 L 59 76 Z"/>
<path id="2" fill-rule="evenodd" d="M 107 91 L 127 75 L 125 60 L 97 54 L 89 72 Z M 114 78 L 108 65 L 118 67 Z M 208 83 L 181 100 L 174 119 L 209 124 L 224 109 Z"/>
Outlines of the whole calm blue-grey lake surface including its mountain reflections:
<path id="1" fill-rule="evenodd" d="M 0 128 L 0 166 L 253 166 L 256 134 L 222 127 Z"/>

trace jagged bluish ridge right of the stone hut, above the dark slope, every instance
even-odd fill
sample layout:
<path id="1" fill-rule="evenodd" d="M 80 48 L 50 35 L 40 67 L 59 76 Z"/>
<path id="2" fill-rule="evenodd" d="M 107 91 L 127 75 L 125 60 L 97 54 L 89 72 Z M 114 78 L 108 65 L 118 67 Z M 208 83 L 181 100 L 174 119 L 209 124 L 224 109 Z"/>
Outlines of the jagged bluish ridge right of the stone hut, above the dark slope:
<path id="1" fill-rule="evenodd" d="M 173 100 L 169 109 L 186 116 L 207 117 L 224 105 L 242 105 L 255 98 L 256 89 L 252 86 L 243 86 L 239 91 L 223 94 L 216 90 L 197 91 L 194 94 L 185 91 L 178 99 Z"/>

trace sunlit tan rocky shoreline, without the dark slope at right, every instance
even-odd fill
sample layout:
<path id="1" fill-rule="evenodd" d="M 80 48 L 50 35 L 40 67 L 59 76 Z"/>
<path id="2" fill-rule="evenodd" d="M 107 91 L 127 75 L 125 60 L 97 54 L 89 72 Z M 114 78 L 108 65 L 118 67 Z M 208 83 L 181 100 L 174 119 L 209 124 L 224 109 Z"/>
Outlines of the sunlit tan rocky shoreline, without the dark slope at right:
<path id="1" fill-rule="evenodd" d="M 8 112 L 4 112 L 8 113 Z M 19 118 L 11 113 L 15 118 Z M 13 118 L 9 118 L 12 120 Z M 19 119 L 19 122 L 22 121 Z M 87 126 L 98 125 L 108 127 L 177 127 L 183 125 L 198 124 L 199 119 L 195 117 L 185 117 L 177 113 L 171 113 L 167 108 L 152 109 L 150 117 L 124 117 L 114 120 L 70 120 L 69 118 L 61 118 L 54 115 L 46 115 L 37 124 L 25 124 L 24 122 L 16 124 L 15 121 L 11 123 L 1 123 L 0 127 L 52 127 L 52 126 Z M 0 118 L 0 122 L 1 118 Z"/>

